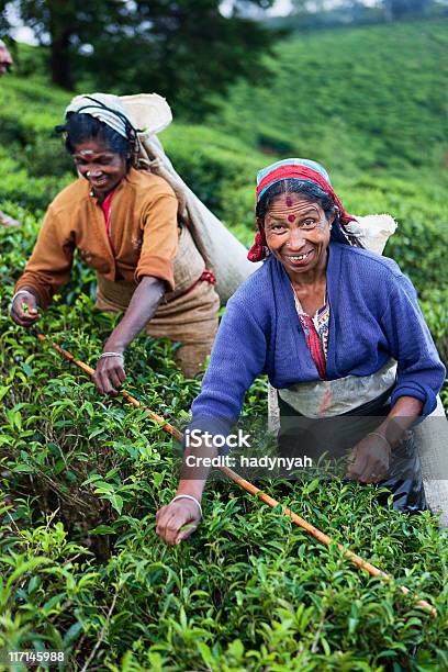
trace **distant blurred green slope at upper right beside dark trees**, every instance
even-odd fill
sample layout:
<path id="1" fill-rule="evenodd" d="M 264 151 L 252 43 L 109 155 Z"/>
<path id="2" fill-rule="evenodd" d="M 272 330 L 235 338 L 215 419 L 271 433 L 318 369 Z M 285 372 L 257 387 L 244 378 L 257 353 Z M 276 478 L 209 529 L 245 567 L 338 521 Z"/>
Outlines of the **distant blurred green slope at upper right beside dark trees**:
<path id="1" fill-rule="evenodd" d="M 240 82 L 209 123 L 345 175 L 446 168 L 447 52 L 446 20 L 293 37 L 272 76 Z"/>

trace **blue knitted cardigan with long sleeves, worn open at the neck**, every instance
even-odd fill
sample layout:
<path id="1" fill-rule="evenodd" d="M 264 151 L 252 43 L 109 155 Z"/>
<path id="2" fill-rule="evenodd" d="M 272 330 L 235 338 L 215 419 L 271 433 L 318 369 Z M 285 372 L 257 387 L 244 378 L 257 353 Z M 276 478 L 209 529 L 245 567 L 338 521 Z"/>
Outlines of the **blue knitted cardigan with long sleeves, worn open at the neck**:
<path id="1" fill-rule="evenodd" d="M 445 378 L 416 292 L 387 257 L 331 243 L 327 290 L 331 321 L 327 378 L 369 376 L 397 361 L 392 405 L 408 395 L 436 407 Z M 275 388 L 320 380 L 295 312 L 283 266 L 270 256 L 227 303 L 190 430 L 226 433 L 237 419 L 254 379 L 266 372 Z M 360 400 L 360 404 L 362 400 Z"/>

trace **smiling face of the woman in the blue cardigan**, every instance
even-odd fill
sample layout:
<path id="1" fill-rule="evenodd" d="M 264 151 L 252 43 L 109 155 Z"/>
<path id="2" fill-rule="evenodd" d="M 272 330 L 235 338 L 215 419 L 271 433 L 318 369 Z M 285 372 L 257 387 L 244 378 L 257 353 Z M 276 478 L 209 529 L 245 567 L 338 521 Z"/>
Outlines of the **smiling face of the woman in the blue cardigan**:
<path id="1" fill-rule="evenodd" d="M 275 199 L 265 216 L 265 235 L 272 255 L 288 275 L 305 279 L 306 273 L 325 269 L 331 221 L 318 203 L 296 193 Z"/>

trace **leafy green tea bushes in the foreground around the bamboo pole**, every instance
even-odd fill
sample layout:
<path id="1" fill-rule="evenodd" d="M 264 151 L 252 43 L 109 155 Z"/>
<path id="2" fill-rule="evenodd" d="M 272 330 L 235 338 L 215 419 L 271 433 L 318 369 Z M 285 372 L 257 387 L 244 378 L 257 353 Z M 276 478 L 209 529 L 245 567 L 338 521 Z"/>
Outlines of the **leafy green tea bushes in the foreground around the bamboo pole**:
<path id="1" fill-rule="evenodd" d="M 154 514 L 172 496 L 179 464 L 169 435 L 143 411 L 100 399 L 10 322 L 40 221 L 18 206 L 11 214 L 23 226 L 0 232 L 0 648 L 63 649 L 74 670 L 444 669 L 448 540 L 429 514 L 380 507 L 372 486 L 264 483 L 432 598 L 435 619 L 232 483 L 209 484 L 191 541 L 159 541 Z M 116 320 L 94 312 L 92 289 L 91 272 L 77 267 L 38 325 L 91 365 Z M 176 371 L 169 344 L 139 338 L 126 360 L 130 391 L 180 424 L 199 381 Z M 247 413 L 266 411 L 262 380 L 248 403 Z"/>

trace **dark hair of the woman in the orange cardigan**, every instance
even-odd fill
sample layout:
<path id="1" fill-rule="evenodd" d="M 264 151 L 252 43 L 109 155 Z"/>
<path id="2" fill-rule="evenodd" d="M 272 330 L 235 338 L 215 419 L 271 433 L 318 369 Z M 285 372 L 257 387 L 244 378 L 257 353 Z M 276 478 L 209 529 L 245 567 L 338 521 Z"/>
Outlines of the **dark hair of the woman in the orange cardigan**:
<path id="1" fill-rule="evenodd" d="M 67 152 L 70 154 L 75 153 L 77 145 L 86 143 L 89 139 L 98 139 L 104 143 L 104 145 L 111 152 L 120 154 L 120 156 L 125 159 L 127 168 L 131 166 L 131 155 L 135 143 L 135 131 L 131 125 L 128 130 L 126 128 L 128 134 L 128 137 L 126 138 L 108 126 L 108 124 L 104 124 L 102 121 L 91 116 L 90 114 L 69 112 L 67 114 L 66 123 L 60 126 L 56 126 L 55 131 L 66 134 L 65 146 Z"/>

